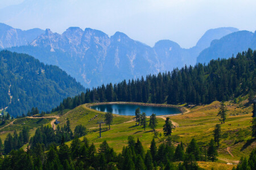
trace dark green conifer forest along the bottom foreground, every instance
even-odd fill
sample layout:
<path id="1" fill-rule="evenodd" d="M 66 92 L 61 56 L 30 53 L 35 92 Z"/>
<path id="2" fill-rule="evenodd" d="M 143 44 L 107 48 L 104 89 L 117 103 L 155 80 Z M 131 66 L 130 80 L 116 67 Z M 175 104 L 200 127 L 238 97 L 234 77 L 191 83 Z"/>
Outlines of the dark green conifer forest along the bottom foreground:
<path id="1" fill-rule="evenodd" d="M 117 154 L 106 141 L 96 150 L 94 144 L 89 143 L 86 137 L 80 141 L 77 135 L 70 147 L 65 145 L 64 135 L 58 138 L 60 142 L 55 143 L 54 139 L 60 133 L 51 133 L 50 129 L 52 128 L 48 126 L 38 128 L 35 136 L 30 139 L 30 147 L 27 147 L 26 151 L 23 148 L 12 150 L 9 155 L 1 158 L 0 169 L 202 169 L 196 161 L 214 162 L 218 155 L 213 139 L 207 147 L 200 146 L 195 139 L 187 146 L 181 142 L 175 147 L 170 137 L 159 146 L 153 138 L 150 148 L 145 150 L 139 138 L 135 141 L 134 137 L 129 136 L 128 145 Z M 11 138 L 10 134 L 9 136 L 7 139 Z M 18 138 L 16 135 L 16 139 Z M 5 141 L 5 147 L 7 142 Z M 57 145 L 60 146 L 57 148 Z M 2 142 L 0 149 L 1 146 Z M 237 169 L 255 169 L 255 162 L 256 149 L 251 152 L 249 159 L 241 158 Z"/>

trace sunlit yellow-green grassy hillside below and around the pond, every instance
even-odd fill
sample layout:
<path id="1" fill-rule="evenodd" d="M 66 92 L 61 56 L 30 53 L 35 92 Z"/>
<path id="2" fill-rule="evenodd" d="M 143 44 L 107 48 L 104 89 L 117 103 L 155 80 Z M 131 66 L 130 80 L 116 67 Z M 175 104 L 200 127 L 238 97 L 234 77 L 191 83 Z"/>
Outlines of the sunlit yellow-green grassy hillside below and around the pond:
<path id="1" fill-rule="evenodd" d="M 228 109 L 228 116 L 225 124 L 221 124 L 221 141 L 220 147 L 218 148 L 217 162 L 205 162 L 204 160 L 198 161 L 199 167 L 204 169 L 232 169 L 236 167 L 241 158 L 241 156 L 249 156 L 250 152 L 255 148 L 256 141 L 251 137 L 251 105 L 247 105 L 246 96 L 241 97 L 238 104 L 234 104 L 231 101 L 226 102 Z M 196 105 L 193 107 L 188 107 L 188 113 L 178 114 L 175 116 L 170 116 L 172 122 L 177 126 L 172 131 L 171 147 L 174 147 L 170 152 L 176 152 L 175 148 L 181 142 L 183 142 L 184 150 L 189 146 L 189 143 L 193 138 L 196 139 L 197 145 L 203 151 L 204 148 L 208 147 L 208 143 L 211 138 L 213 138 L 213 130 L 216 124 L 220 124 L 218 117 L 218 109 L 220 108 L 220 102 L 214 101 L 207 105 Z M 31 126 L 30 134 L 31 138 L 35 134 L 35 128 L 40 127 L 42 124 L 48 124 L 49 118 L 47 116 L 57 116 L 59 112 L 47 114 L 44 118 L 18 118 L 15 120 L 15 126 L 10 125 L 6 127 L 5 130 L 10 130 L 13 133 L 15 127 L 18 130 L 22 130 L 23 126 Z M 102 128 L 102 138 L 98 138 L 99 135 L 99 125 L 98 120 L 102 120 L 104 117 L 104 112 L 98 112 L 87 107 L 87 105 L 80 105 L 72 110 L 65 110 L 63 116 L 58 119 L 60 121 L 59 126 L 65 128 L 67 120 L 70 122 L 71 130 L 74 131 L 77 125 L 83 125 L 87 128 L 88 134 L 85 137 L 88 141 L 83 141 L 84 137 L 81 137 L 82 142 L 74 141 L 65 142 L 66 145 L 71 147 L 71 151 L 74 150 L 74 145 L 82 145 L 82 143 L 90 146 L 92 143 L 96 147 L 95 153 L 100 153 L 100 147 L 102 147 L 102 142 L 107 141 L 108 146 L 113 148 L 114 152 L 117 154 L 123 154 L 123 146 L 130 145 L 127 141 L 129 135 L 133 136 L 134 139 L 139 138 L 139 141 L 144 147 L 144 152 L 150 149 L 152 138 L 154 138 L 154 133 L 152 129 L 148 126 L 149 118 L 147 118 L 147 127 L 144 131 L 142 126 L 135 126 L 134 116 L 118 116 L 114 115 L 113 123 L 110 126 L 110 130 L 105 130 L 108 125 L 103 124 Z M 97 115 L 97 117 L 95 117 Z M 94 118 L 92 121 L 90 121 Z M 49 120 L 48 120 L 49 119 Z M 156 131 L 158 131 L 159 139 L 155 138 L 156 147 L 160 151 L 162 145 L 166 145 L 165 141 L 167 138 L 163 136 L 163 125 L 166 117 L 157 116 L 158 125 L 156 126 Z M 27 125 L 23 125 L 26 122 Z M 56 125 L 55 125 L 56 126 Z M 1 127 L 0 127 L 1 128 Z M 7 129 L 8 128 L 8 129 Z M 56 130 L 57 131 L 57 130 Z M 57 133 L 57 132 L 56 132 Z M 0 137 L 2 141 L 5 140 L 7 135 L 6 131 L 1 133 Z M 79 144 L 80 143 L 80 144 Z M 32 145 L 30 143 L 30 145 Z M 27 146 L 27 145 L 26 145 Z M 61 146 L 59 146 L 61 148 Z M 25 148 L 25 147 L 23 147 Z M 79 147 L 82 149 L 82 147 Z M 58 152 L 59 153 L 59 152 Z M 204 155 L 204 152 L 201 153 Z M 160 155 L 160 154 L 158 154 Z M 173 155 L 172 155 L 173 156 Z M 173 158 L 170 156 L 169 158 Z M 73 156 L 71 156 L 73 158 Z M 172 162 L 177 165 L 179 162 L 172 160 Z M 77 161 L 73 160 L 73 164 L 77 165 Z M 72 163 L 72 162 L 71 162 Z M 118 162 L 119 164 L 119 162 Z"/>

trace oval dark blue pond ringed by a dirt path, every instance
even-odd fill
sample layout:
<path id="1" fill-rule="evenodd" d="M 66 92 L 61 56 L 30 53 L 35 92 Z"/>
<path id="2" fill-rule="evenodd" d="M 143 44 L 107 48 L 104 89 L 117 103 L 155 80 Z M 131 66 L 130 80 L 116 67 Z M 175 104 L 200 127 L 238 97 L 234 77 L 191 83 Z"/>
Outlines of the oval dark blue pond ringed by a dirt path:
<path id="1" fill-rule="evenodd" d="M 101 112 L 110 112 L 113 114 L 120 114 L 125 116 L 134 116 L 135 109 L 140 108 L 141 113 L 145 112 L 147 116 L 152 113 L 156 115 L 167 115 L 167 114 L 177 114 L 181 113 L 177 108 L 169 107 L 156 107 L 150 105 L 135 105 L 135 104 L 102 104 L 93 105 L 90 108 Z"/>

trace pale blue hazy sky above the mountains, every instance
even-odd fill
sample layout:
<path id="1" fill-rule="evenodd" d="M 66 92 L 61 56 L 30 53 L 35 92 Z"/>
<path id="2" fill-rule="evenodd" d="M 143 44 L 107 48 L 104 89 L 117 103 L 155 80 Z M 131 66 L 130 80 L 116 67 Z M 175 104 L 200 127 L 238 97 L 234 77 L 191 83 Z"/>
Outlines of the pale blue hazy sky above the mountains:
<path id="1" fill-rule="evenodd" d="M 255 0 L 0 0 L 0 22 L 58 33 L 71 26 L 109 36 L 120 31 L 150 46 L 169 39 L 189 48 L 210 28 L 254 32 L 255 6 Z"/>

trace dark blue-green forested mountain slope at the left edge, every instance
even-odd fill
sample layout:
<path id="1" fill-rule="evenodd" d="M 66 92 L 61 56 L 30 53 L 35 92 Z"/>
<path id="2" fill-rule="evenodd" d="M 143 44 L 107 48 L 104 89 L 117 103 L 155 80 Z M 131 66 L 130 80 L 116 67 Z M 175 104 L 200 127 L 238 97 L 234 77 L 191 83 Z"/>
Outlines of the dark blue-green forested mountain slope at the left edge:
<path id="1" fill-rule="evenodd" d="M 0 52 L 0 108 L 12 116 L 32 107 L 49 111 L 64 97 L 85 91 L 74 78 L 57 66 L 44 65 L 27 54 Z"/>

